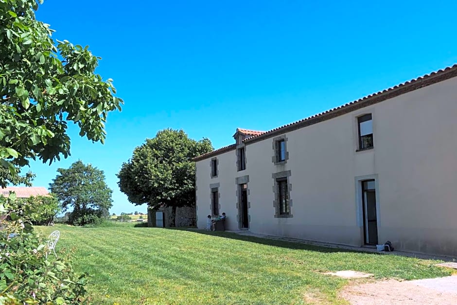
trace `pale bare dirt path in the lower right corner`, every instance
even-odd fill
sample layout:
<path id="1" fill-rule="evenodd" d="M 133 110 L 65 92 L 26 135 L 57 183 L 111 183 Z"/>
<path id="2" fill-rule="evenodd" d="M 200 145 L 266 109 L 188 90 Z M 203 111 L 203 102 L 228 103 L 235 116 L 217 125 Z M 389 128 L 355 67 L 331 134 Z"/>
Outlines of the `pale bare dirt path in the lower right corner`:
<path id="1" fill-rule="evenodd" d="M 351 304 L 454 305 L 457 304 L 457 276 L 352 285 L 339 295 Z"/>

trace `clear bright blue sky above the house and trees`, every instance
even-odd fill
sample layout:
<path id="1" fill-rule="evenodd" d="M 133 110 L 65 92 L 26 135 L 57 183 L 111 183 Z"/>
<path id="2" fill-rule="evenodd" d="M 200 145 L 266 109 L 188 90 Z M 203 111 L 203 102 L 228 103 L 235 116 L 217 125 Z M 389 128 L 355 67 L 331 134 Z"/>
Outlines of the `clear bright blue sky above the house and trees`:
<path id="1" fill-rule="evenodd" d="M 456 10 L 457 1 L 420 0 L 46 0 L 37 18 L 101 56 L 97 72 L 125 105 L 108 115 L 105 145 L 72 126 L 71 157 L 32 162 L 34 185 L 81 159 L 105 171 L 111 213 L 145 212 L 115 174 L 158 130 L 182 128 L 218 148 L 237 127 L 272 129 L 451 66 Z"/>

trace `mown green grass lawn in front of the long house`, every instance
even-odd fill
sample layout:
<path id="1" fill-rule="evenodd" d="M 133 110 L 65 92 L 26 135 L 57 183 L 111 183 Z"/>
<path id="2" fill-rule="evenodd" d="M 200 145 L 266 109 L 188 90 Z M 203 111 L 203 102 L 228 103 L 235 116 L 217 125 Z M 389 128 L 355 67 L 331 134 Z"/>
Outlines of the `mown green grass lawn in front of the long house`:
<path id="1" fill-rule="evenodd" d="M 377 278 L 448 275 L 434 262 L 327 249 L 226 232 L 65 225 L 57 250 L 75 248 L 73 267 L 92 276 L 92 304 L 342 303 L 349 281 L 322 272 L 352 269 Z"/>

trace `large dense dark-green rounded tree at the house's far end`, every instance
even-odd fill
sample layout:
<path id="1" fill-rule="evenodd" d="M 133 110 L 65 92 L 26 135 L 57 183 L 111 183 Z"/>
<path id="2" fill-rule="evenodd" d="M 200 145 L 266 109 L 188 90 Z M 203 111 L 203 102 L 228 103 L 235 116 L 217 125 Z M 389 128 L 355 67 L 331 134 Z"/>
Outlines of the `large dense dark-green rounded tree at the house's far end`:
<path id="1" fill-rule="evenodd" d="M 183 130 L 164 129 L 133 151 L 121 166 L 118 185 L 135 205 L 151 209 L 195 204 L 195 163 L 192 158 L 213 150 L 211 141 L 189 139 Z"/>

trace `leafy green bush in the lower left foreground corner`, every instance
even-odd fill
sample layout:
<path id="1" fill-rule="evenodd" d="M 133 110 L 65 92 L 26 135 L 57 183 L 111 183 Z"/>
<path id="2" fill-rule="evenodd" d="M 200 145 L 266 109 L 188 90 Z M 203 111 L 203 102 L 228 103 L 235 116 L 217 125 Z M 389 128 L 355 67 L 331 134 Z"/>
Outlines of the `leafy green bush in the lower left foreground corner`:
<path id="1" fill-rule="evenodd" d="M 33 230 L 32 210 L 14 193 L 0 197 L 0 304 L 85 303 L 88 275 L 74 273 L 70 255 L 45 258 L 49 249 Z"/>

